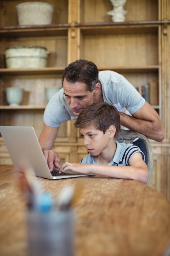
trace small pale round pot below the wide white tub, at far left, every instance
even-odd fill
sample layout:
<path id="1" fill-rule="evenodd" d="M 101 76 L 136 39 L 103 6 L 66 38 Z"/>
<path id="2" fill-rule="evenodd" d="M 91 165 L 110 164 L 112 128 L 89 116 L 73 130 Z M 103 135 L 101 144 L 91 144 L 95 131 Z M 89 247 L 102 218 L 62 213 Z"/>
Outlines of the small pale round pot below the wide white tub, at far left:
<path id="1" fill-rule="evenodd" d="M 6 88 L 6 97 L 9 106 L 18 106 L 22 102 L 24 89 L 8 87 Z"/>

